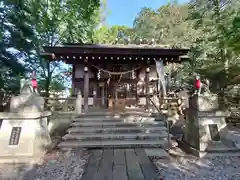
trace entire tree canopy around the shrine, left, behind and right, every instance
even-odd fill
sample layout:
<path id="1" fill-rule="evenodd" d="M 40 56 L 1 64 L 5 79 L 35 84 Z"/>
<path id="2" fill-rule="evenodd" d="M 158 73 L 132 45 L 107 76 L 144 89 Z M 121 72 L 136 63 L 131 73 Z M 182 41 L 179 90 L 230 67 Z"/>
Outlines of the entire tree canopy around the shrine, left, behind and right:
<path id="1" fill-rule="evenodd" d="M 133 26 L 127 27 L 106 24 L 106 0 L 2 0 L 1 90 L 18 89 L 19 78 L 31 71 L 37 72 L 47 96 L 52 87 L 60 87 L 56 81 L 61 82 L 69 69 L 41 58 L 43 45 L 139 43 L 140 39 L 190 48 L 189 63 L 177 70 L 182 80 L 200 73 L 225 87 L 237 76 L 233 69 L 240 70 L 239 8 L 238 0 L 173 2 L 155 10 L 142 8 Z"/>

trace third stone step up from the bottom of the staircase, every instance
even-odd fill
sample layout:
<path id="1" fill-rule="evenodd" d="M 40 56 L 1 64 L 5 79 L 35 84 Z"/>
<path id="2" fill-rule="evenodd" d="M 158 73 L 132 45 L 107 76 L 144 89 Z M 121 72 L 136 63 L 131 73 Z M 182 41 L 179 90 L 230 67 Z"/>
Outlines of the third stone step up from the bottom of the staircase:
<path id="1" fill-rule="evenodd" d="M 71 127 L 67 130 L 68 133 L 97 133 L 97 132 L 164 132 L 165 127 Z"/>

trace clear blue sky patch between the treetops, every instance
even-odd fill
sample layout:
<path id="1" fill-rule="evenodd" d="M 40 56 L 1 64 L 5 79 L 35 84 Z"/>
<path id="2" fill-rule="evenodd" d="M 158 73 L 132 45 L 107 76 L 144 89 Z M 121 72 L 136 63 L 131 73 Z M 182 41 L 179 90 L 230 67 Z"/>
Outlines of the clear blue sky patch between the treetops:
<path id="1" fill-rule="evenodd" d="M 107 9 L 110 11 L 107 16 L 107 24 L 131 27 L 141 8 L 158 9 L 168 2 L 169 0 L 107 0 Z M 188 0 L 179 0 L 178 2 L 184 3 Z"/>

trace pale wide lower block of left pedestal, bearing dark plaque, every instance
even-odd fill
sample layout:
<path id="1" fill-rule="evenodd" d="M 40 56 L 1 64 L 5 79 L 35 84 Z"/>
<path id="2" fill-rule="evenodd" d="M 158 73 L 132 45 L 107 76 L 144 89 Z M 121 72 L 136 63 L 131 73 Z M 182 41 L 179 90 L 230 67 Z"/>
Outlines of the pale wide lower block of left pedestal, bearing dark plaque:
<path id="1" fill-rule="evenodd" d="M 51 146 L 47 120 L 50 114 L 1 113 L 0 161 L 25 161 L 42 156 Z"/>

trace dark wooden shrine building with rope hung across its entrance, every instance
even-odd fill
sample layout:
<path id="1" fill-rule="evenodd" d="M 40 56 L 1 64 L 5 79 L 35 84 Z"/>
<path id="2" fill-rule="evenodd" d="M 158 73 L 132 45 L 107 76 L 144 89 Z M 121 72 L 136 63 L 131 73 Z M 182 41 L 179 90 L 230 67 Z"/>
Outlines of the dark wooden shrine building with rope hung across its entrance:
<path id="1" fill-rule="evenodd" d="M 181 63 L 189 51 L 147 44 L 64 44 L 43 50 L 49 61 L 72 65 L 72 93 L 81 91 L 84 109 L 148 107 L 148 96 L 157 94 L 156 61 Z"/>

